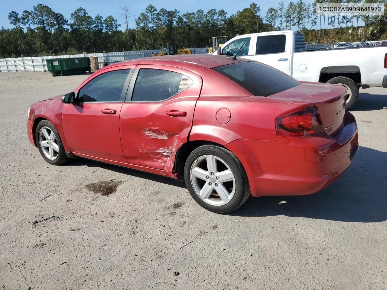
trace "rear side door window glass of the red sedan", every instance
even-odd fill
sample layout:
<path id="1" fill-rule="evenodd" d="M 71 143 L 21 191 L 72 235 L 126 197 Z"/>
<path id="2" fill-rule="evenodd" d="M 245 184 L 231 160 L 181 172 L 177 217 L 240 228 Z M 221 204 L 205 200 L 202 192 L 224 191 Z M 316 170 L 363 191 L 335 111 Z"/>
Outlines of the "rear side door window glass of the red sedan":
<path id="1" fill-rule="evenodd" d="M 179 92 L 181 73 L 141 68 L 134 85 L 132 101 L 164 101 Z"/>

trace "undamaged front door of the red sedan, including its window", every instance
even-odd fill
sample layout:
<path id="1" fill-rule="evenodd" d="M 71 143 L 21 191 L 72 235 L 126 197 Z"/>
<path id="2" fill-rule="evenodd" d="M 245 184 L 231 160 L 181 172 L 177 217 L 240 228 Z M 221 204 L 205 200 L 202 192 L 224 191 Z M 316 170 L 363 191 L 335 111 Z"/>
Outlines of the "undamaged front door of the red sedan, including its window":
<path id="1" fill-rule="evenodd" d="M 125 163 L 119 116 L 134 68 L 96 72 L 75 90 L 75 102 L 63 105 L 63 132 L 71 152 Z"/>

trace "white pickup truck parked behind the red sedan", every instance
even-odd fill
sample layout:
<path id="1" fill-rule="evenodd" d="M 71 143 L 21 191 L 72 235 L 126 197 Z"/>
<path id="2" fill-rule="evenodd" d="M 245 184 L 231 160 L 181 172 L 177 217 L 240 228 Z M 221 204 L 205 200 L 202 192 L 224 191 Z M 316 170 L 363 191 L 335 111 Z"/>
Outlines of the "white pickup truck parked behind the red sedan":
<path id="1" fill-rule="evenodd" d="M 300 81 L 344 85 L 347 109 L 356 102 L 360 87 L 387 87 L 385 46 L 307 51 L 303 34 L 289 30 L 238 35 L 214 54 L 233 56 L 244 42 L 238 57 L 260 61 Z"/>

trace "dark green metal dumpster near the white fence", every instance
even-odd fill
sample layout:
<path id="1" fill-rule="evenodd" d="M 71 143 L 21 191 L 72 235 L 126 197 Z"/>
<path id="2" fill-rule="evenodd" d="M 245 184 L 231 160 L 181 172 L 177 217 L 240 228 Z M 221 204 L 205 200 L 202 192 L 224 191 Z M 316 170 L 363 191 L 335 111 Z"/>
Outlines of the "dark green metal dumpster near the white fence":
<path id="1" fill-rule="evenodd" d="M 46 60 L 47 69 L 55 75 L 73 75 L 75 73 L 90 72 L 90 60 L 88 57 L 57 58 Z"/>

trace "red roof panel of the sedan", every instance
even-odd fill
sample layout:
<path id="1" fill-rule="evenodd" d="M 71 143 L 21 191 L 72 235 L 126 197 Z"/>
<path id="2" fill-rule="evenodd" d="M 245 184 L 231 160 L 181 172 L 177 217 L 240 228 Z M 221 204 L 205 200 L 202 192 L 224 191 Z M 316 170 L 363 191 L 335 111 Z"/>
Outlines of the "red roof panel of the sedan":
<path id="1" fill-rule="evenodd" d="M 220 67 L 222 65 L 229 65 L 241 61 L 248 61 L 245 59 L 233 60 L 225 55 L 165 55 L 146 58 L 137 58 L 135 60 L 121 61 L 111 65 L 170 65 L 173 67 L 188 68 L 192 65 L 199 65 L 207 68 Z M 109 66 L 110 67 L 110 66 Z"/>

